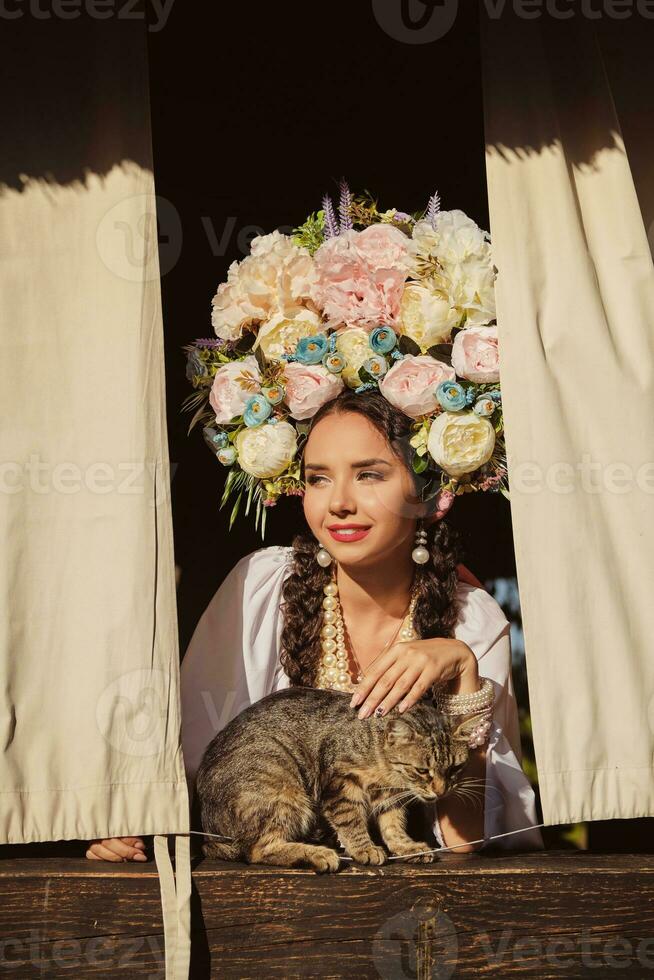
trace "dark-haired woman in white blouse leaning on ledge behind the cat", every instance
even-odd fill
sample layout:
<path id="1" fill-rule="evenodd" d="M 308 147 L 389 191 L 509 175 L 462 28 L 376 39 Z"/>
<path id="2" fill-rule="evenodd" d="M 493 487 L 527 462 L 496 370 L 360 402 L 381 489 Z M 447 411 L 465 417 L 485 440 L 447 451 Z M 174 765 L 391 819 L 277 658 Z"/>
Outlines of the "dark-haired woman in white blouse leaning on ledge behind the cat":
<path id="1" fill-rule="evenodd" d="M 394 706 L 406 710 L 434 684 L 467 694 L 484 677 L 492 681 L 488 744 L 470 750 L 467 788 L 432 805 L 430 815 L 441 846 L 477 850 L 471 842 L 537 822 L 533 791 L 520 765 L 510 626 L 484 589 L 457 576 L 465 570 L 456 538 L 434 502 L 425 504 L 419 496 L 420 478 L 410 466 L 410 423 L 379 393 L 350 390 L 313 417 L 303 455 L 309 531 L 298 534 L 291 547 L 261 548 L 237 563 L 201 617 L 182 662 L 189 790 L 209 741 L 240 711 L 290 684 L 318 686 L 319 671 L 325 677 L 322 603 L 331 556 L 347 680 L 354 684 L 361 676 L 352 698 L 360 718 Z M 428 555 L 416 555 L 424 539 L 419 528 L 426 530 Z M 412 598 L 413 621 L 407 624 Z M 415 633 L 408 638 L 411 625 Z M 339 680 L 346 678 L 334 683 Z M 498 844 L 543 847 L 537 829 Z M 95 841 L 87 857 L 141 860 L 141 845 L 139 838 Z"/>

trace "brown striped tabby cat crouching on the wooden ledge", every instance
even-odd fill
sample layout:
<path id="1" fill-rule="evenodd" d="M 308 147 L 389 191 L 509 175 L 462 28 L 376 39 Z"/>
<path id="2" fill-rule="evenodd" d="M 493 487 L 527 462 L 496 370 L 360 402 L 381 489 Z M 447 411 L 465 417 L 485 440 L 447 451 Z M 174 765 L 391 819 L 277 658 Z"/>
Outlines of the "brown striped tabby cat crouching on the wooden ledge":
<path id="1" fill-rule="evenodd" d="M 474 722 L 473 722 L 474 724 Z M 360 720 L 350 695 L 291 687 L 246 708 L 207 747 L 197 773 L 206 857 L 336 871 L 340 840 L 363 864 L 391 854 L 431 861 L 406 830 L 406 805 L 452 790 L 468 761 L 466 722 L 423 699 Z"/>

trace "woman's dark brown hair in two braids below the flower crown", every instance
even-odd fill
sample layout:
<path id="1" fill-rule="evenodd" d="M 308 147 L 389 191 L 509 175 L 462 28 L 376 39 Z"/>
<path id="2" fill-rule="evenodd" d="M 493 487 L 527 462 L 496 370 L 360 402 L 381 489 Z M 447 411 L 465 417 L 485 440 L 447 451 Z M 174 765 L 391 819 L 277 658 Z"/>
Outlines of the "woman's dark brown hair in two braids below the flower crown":
<path id="1" fill-rule="evenodd" d="M 323 405 L 313 416 L 311 425 L 317 425 L 328 415 L 345 412 L 365 416 L 386 438 L 392 451 L 409 469 L 420 498 L 424 478 L 411 466 L 411 419 L 374 389 L 357 395 L 348 388 Z M 430 505 L 433 510 L 430 501 L 425 516 L 430 513 Z M 431 560 L 416 566 L 418 599 L 414 626 L 423 639 L 451 637 L 459 612 L 456 566 L 461 561 L 460 539 L 458 532 L 444 518 L 425 530 Z M 281 663 L 292 684 L 312 687 L 321 652 L 323 588 L 329 581 L 331 570 L 322 568 L 316 561 L 316 539 L 309 530 L 296 534 L 292 547 L 292 569 L 282 591 Z"/>

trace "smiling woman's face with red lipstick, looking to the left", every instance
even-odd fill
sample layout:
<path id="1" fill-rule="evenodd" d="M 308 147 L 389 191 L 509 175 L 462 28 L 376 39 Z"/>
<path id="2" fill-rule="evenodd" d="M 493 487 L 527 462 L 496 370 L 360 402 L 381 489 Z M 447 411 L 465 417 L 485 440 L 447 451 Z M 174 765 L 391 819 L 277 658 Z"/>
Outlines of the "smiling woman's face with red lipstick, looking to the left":
<path id="1" fill-rule="evenodd" d="M 414 546 L 421 502 L 411 474 L 384 436 L 355 412 L 328 415 L 304 449 L 304 513 L 341 564 L 374 564 Z M 343 530 L 357 525 L 358 530 Z"/>

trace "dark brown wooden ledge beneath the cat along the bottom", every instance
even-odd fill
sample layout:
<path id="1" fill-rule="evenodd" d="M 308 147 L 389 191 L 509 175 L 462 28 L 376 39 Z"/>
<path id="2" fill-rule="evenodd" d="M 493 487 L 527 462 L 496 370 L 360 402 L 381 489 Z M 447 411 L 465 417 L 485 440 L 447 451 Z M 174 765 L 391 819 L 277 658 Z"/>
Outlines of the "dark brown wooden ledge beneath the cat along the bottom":
<path id="1" fill-rule="evenodd" d="M 163 978 L 153 860 L 2 850 L 0 969 Z M 651 854 L 446 854 L 326 875 L 195 858 L 193 884 L 193 980 L 654 976 Z"/>

